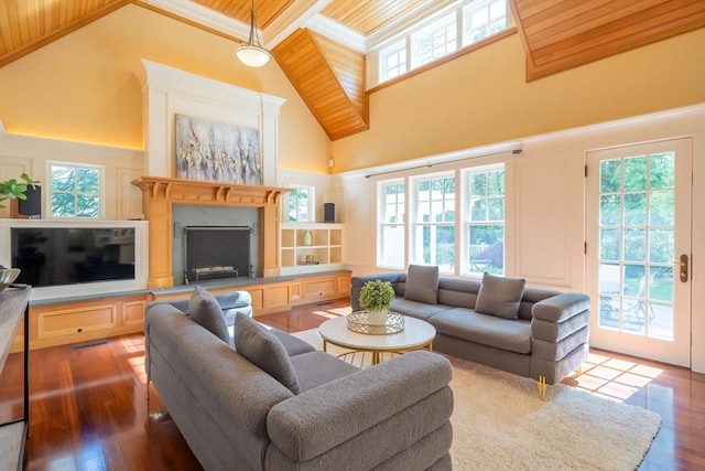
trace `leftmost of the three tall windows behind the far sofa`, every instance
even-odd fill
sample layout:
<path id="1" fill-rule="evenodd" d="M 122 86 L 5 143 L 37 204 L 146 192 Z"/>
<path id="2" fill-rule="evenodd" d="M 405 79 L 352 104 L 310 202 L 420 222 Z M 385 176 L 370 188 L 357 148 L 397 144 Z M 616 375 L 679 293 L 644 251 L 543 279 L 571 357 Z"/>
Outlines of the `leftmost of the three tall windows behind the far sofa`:
<path id="1" fill-rule="evenodd" d="M 404 268 L 405 255 L 405 191 L 404 182 L 391 181 L 380 185 L 381 224 L 379 244 L 379 265 L 390 268 Z"/>

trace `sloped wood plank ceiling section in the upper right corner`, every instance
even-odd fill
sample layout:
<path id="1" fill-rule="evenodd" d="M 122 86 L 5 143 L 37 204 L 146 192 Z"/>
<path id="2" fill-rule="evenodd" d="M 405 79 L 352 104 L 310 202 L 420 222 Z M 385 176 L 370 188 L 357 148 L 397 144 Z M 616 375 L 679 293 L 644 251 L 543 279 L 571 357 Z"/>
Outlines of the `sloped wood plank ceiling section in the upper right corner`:
<path id="1" fill-rule="evenodd" d="M 703 0 L 513 0 L 534 79 L 705 26 Z"/>

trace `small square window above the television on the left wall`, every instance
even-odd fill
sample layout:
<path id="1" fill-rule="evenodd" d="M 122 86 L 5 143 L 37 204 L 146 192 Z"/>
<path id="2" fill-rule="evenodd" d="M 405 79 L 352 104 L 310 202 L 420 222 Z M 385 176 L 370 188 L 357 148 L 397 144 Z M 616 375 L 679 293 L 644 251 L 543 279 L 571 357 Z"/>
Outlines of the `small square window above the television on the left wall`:
<path id="1" fill-rule="evenodd" d="M 50 162 L 52 217 L 102 217 L 102 167 Z"/>

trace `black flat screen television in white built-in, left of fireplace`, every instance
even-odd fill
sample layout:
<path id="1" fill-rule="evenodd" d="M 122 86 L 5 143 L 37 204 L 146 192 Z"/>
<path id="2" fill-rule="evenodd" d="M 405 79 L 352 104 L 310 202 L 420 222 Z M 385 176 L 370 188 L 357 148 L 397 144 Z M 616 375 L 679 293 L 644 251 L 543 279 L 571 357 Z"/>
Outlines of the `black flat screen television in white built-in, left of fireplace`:
<path id="1" fill-rule="evenodd" d="M 12 227 L 15 282 L 34 288 L 134 280 L 133 227 Z"/>

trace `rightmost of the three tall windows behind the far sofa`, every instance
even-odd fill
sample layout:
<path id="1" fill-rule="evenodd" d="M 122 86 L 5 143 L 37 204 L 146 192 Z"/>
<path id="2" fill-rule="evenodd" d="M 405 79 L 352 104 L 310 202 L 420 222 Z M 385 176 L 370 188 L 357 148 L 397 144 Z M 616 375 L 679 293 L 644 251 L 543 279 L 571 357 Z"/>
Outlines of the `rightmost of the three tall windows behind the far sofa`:
<path id="1" fill-rule="evenodd" d="M 505 275 L 505 170 L 469 170 L 467 274 Z"/>

